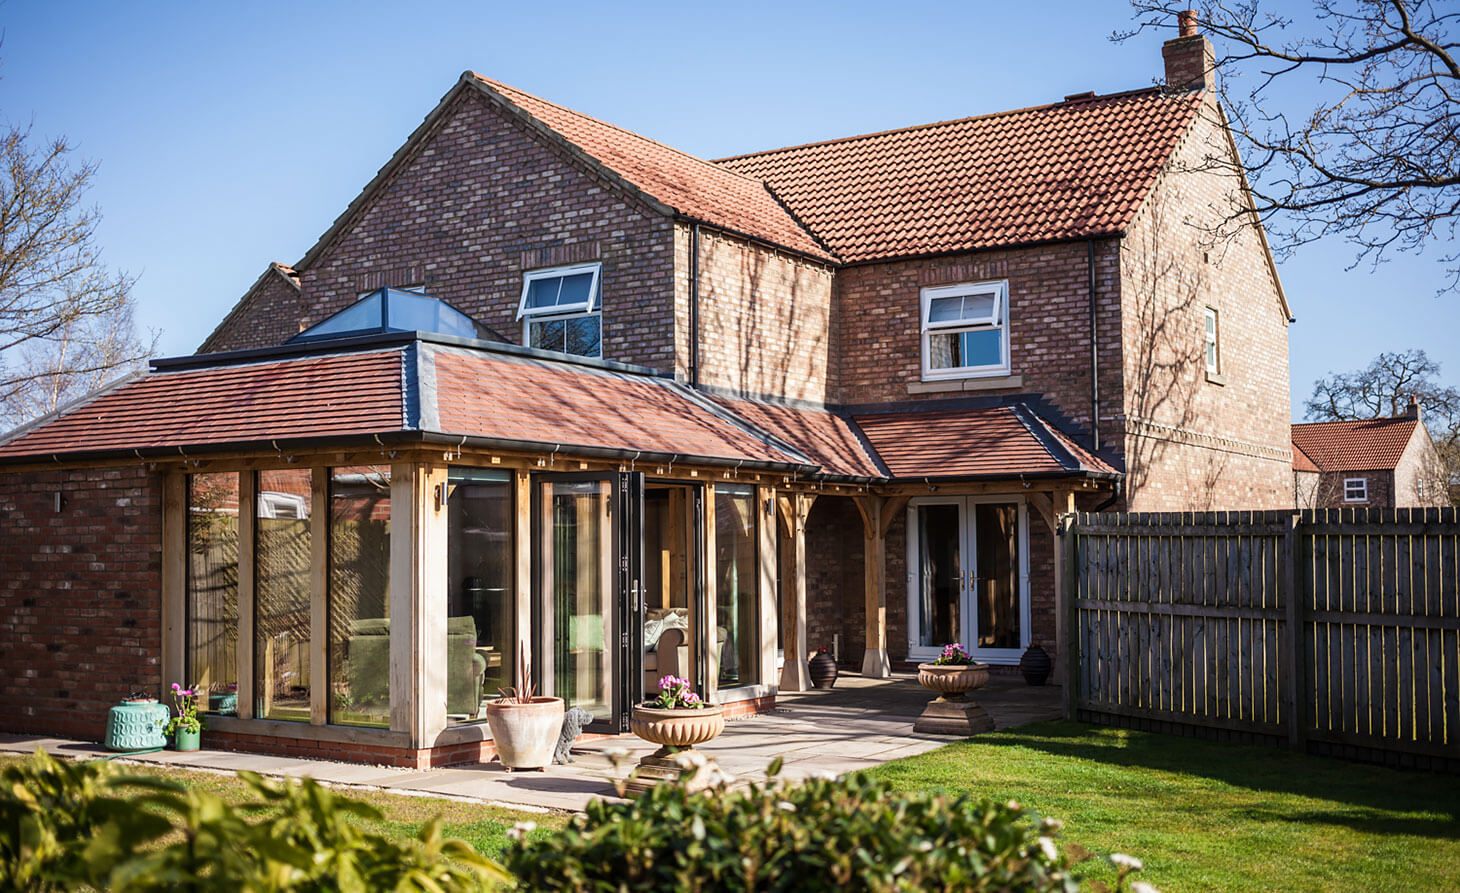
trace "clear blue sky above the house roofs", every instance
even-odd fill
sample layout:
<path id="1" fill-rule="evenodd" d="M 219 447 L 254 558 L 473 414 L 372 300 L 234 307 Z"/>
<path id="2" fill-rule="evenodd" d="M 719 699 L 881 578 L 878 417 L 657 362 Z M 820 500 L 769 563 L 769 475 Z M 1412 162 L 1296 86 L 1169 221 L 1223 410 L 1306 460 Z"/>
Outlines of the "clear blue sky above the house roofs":
<path id="1" fill-rule="evenodd" d="M 1149 86 L 1162 38 L 1113 44 L 1129 23 L 1118 1 L 9 0 L 0 114 L 99 162 L 105 258 L 180 355 L 269 261 L 299 260 L 466 69 L 718 158 Z M 1280 263 L 1294 413 L 1381 350 L 1422 347 L 1460 382 L 1442 268 L 1350 264 L 1342 242 Z"/>

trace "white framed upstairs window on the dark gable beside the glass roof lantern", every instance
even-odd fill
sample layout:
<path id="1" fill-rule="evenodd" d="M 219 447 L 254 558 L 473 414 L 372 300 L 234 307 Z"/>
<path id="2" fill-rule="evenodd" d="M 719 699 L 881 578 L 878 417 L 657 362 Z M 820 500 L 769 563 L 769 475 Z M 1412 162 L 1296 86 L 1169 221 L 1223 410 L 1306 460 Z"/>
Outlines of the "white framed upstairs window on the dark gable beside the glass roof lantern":
<path id="1" fill-rule="evenodd" d="M 599 309 L 602 264 L 533 270 L 523 276 L 523 343 L 577 356 L 603 356 Z"/>

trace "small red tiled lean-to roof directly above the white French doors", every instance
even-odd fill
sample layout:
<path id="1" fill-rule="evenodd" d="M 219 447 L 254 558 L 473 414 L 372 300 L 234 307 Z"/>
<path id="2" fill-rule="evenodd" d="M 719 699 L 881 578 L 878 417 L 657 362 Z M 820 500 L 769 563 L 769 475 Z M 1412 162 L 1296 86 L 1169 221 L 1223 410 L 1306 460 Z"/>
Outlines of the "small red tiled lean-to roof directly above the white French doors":
<path id="1" fill-rule="evenodd" d="M 1114 476 L 1023 404 L 854 414 L 894 477 Z"/>

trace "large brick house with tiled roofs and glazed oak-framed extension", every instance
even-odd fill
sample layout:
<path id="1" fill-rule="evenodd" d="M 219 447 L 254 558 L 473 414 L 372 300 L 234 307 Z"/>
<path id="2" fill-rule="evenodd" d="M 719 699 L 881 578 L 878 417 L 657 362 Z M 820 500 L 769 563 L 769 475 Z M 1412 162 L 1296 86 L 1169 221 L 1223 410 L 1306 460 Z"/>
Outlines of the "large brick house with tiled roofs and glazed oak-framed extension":
<path id="1" fill-rule="evenodd" d="M 1289 508 L 1291 314 L 1186 16 L 1165 85 L 704 161 L 466 73 L 188 357 L 0 442 L 4 728 L 441 765 L 831 648 L 1012 665 L 1069 511 Z"/>

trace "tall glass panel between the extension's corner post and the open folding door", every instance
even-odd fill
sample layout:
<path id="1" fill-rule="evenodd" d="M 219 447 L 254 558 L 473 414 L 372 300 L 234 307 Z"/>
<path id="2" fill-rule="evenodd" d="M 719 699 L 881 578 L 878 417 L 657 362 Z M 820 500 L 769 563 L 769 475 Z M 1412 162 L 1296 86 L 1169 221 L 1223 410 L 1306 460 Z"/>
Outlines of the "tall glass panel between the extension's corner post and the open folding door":
<path id="1" fill-rule="evenodd" d="M 514 684 L 515 515 L 505 474 L 451 468 L 447 482 L 447 716 L 467 722 Z"/>

